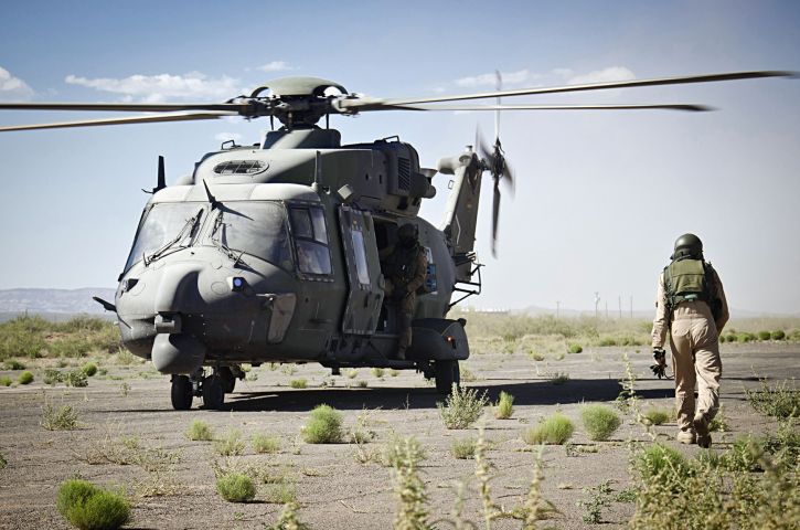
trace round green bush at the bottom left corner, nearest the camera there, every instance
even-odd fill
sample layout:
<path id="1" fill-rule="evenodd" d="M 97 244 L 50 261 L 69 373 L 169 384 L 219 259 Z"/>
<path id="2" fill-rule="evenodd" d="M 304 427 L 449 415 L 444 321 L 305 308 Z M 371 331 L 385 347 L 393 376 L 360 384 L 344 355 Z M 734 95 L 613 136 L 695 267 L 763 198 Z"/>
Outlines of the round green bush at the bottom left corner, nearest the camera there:
<path id="1" fill-rule="evenodd" d="M 58 511 L 81 530 L 114 530 L 130 519 L 130 504 L 119 494 L 85 480 L 67 480 L 58 488 Z"/>

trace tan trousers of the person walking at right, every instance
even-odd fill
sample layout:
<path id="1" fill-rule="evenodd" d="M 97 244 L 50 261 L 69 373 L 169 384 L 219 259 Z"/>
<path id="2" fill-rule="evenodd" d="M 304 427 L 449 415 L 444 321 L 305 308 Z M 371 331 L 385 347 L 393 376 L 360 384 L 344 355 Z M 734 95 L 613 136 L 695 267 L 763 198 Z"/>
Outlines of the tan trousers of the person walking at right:
<path id="1" fill-rule="evenodd" d="M 705 303 L 684 301 L 675 308 L 670 344 L 675 372 L 678 426 L 681 431 L 691 431 L 695 414 L 703 414 L 711 422 L 719 409 L 719 378 L 723 371 L 719 339 Z"/>

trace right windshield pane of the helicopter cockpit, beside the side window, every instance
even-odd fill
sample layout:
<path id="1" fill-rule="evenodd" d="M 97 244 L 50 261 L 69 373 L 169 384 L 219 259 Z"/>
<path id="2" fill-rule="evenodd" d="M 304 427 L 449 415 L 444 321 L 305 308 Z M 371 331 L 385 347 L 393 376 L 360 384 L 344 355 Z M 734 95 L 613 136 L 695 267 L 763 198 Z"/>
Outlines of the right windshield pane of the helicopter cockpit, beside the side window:
<path id="1" fill-rule="evenodd" d="M 286 211 L 276 202 L 225 202 L 203 244 L 224 251 L 244 252 L 277 265 L 292 268 Z"/>

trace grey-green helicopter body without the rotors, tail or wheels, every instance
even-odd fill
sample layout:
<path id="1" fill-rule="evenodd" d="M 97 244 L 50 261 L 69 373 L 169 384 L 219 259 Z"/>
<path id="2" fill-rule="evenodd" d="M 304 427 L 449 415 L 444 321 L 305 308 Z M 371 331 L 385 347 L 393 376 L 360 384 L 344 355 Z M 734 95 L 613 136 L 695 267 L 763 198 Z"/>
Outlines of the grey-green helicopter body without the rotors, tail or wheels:
<path id="1" fill-rule="evenodd" d="M 414 149 L 296 145 L 209 153 L 191 177 L 153 194 L 115 297 L 130 351 L 164 373 L 381 364 L 396 336 L 378 252 L 405 222 L 417 224 L 433 265 L 415 322 L 440 331 L 456 268 L 442 232 L 417 216 L 434 191 Z M 462 342 L 456 358 L 468 356 Z"/>

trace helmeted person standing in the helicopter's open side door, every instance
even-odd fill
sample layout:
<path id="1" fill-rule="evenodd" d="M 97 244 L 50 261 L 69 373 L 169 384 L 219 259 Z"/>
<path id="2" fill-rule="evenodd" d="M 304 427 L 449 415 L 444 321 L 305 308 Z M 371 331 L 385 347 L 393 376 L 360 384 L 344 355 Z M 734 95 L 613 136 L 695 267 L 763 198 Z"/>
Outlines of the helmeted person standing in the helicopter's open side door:
<path id="1" fill-rule="evenodd" d="M 418 229 L 406 223 L 397 230 L 397 243 L 390 247 L 382 261 L 386 278 L 385 297 L 397 305 L 397 359 L 405 359 L 406 349 L 412 343 L 412 319 L 417 300 L 417 289 L 425 284 L 428 258 L 419 245 Z"/>

